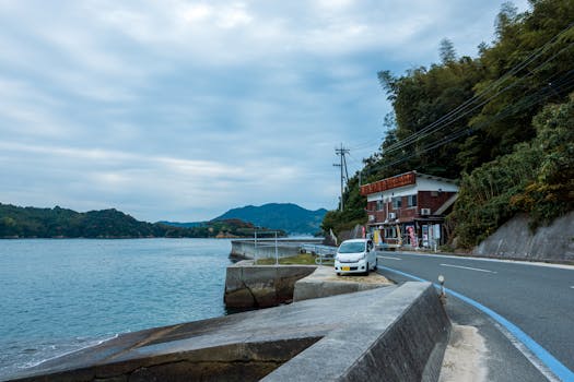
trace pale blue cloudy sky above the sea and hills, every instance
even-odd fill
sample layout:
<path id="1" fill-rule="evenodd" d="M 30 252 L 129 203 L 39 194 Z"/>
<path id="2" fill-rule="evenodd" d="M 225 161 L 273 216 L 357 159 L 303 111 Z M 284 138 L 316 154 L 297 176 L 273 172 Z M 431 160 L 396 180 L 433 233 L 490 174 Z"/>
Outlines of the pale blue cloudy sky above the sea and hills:
<path id="1" fill-rule="evenodd" d="M 438 62 L 443 38 L 476 57 L 501 4 L 0 0 L 0 203 L 333 210 L 335 148 L 352 175 L 385 134 L 377 72 Z"/>

